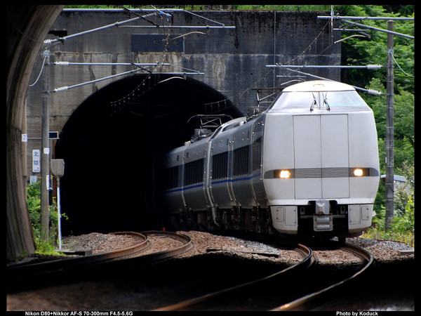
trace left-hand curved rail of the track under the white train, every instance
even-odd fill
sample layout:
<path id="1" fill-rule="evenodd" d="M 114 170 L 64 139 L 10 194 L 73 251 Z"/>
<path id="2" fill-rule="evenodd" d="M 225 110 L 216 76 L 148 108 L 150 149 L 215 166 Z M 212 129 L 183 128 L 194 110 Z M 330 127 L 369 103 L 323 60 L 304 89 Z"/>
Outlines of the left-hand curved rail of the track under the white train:
<path id="1" fill-rule="evenodd" d="M 155 309 L 155 311 L 198 310 L 198 308 L 203 309 L 203 306 L 206 308 L 206 305 L 209 305 L 216 299 L 229 298 L 231 297 L 229 296 L 229 294 L 233 294 L 233 293 L 238 295 L 239 292 L 244 292 L 247 289 L 250 289 L 250 287 L 262 286 L 263 284 L 269 281 L 275 281 L 276 278 L 285 277 L 286 275 L 292 274 L 294 272 L 298 272 L 300 270 L 305 270 L 309 268 L 310 266 L 312 266 L 312 264 L 315 261 L 312 249 L 302 244 L 298 244 L 298 247 L 295 248 L 295 251 L 298 251 L 303 256 L 304 259 L 300 261 L 299 263 L 295 265 L 290 265 L 288 268 L 285 268 L 279 272 L 275 272 L 272 275 L 269 275 L 267 277 L 262 277 L 254 281 L 239 284 L 234 287 L 229 287 L 227 289 L 215 291 L 213 293 L 199 296 L 197 298 L 192 298 L 187 301 L 182 301 L 180 303 L 175 303 L 173 305 L 157 308 Z"/>

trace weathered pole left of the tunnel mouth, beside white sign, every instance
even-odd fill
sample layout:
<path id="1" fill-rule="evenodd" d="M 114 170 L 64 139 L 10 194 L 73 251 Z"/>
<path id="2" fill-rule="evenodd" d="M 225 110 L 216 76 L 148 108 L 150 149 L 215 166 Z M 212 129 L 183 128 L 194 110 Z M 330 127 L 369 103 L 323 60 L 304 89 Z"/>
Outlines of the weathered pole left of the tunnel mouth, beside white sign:
<path id="1" fill-rule="evenodd" d="M 44 51 L 44 91 L 41 110 L 41 239 L 46 242 L 49 237 L 50 211 L 48 189 L 50 188 L 50 100 L 49 100 L 49 63 L 50 51 Z"/>

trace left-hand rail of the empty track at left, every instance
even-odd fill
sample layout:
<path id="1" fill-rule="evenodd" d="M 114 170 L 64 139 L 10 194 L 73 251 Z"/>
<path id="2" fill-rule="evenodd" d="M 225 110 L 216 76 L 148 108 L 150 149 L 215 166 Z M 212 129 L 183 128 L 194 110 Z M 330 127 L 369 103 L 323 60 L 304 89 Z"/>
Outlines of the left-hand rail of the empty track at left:
<path id="1" fill-rule="evenodd" d="M 6 278 L 22 279 L 30 276 L 44 275 L 47 273 L 76 269 L 82 266 L 104 263 L 106 261 L 115 261 L 121 258 L 136 256 L 150 246 L 150 242 L 147 239 L 147 237 L 138 232 L 114 232 L 112 233 L 112 235 L 134 235 L 141 237 L 143 240 L 142 242 L 134 246 L 126 247 L 123 249 L 117 249 L 114 251 L 107 251 L 100 254 L 57 259 L 41 263 L 13 265 L 11 267 L 6 268 Z"/>

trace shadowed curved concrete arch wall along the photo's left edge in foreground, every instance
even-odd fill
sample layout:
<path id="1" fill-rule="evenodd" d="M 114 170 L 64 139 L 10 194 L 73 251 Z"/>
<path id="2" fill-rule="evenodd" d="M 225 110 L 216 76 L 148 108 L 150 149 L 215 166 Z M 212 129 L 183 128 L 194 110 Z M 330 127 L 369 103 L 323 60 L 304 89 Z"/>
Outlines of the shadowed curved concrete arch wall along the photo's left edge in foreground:
<path id="1" fill-rule="evenodd" d="M 64 6 L 6 5 L 6 258 L 34 254 L 22 166 L 22 131 L 29 74 L 49 27 Z"/>

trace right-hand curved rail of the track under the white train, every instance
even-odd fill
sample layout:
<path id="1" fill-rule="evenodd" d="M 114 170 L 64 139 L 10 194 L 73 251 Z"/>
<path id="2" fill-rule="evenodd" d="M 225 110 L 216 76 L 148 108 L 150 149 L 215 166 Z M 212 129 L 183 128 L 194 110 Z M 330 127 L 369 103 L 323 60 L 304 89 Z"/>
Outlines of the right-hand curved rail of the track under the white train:
<path id="1" fill-rule="evenodd" d="M 374 258 L 373 258 L 373 255 L 370 253 L 370 251 L 363 249 L 359 246 L 354 246 L 352 244 L 347 244 L 347 243 L 345 243 L 345 245 L 342 246 L 342 248 L 345 249 L 346 251 L 352 252 L 352 254 L 355 254 L 356 256 L 359 256 L 361 259 L 366 261 L 366 265 L 364 265 L 363 268 L 361 268 L 359 271 L 355 272 L 354 275 L 347 277 L 346 279 L 342 279 L 342 281 L 340 282 L 331 284 L 330 286 L 324 289 L 315 291 L 306 296 L 302 296 L 301 298 L 298 298 L 295 301 L 291 301 L 289 303 L 283 304 L 277 308 L 272 309 L 271 311 L 308 310 L 309 305 L 312 305 L 316 298 L 321 298 L 322 296 L 326 296 L 327 294 L 330 294 L 332 290 L 338 289 L 338 287 L 342 286 L 346 282 L 356 279 L 356 277 L 361 276 L 363 272 L 368 270 L 368 268 L 370 268 L 373 265 Z"/>

